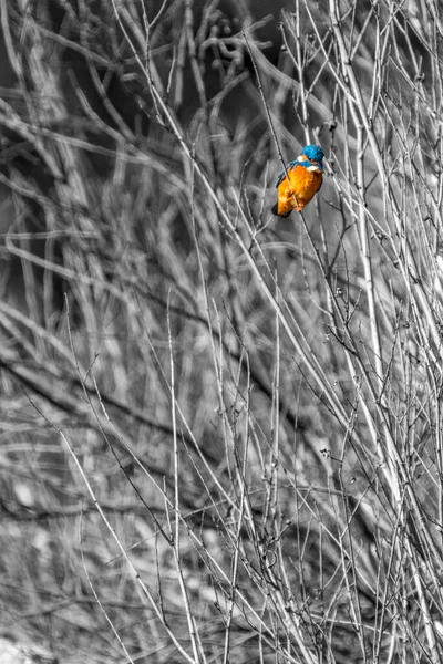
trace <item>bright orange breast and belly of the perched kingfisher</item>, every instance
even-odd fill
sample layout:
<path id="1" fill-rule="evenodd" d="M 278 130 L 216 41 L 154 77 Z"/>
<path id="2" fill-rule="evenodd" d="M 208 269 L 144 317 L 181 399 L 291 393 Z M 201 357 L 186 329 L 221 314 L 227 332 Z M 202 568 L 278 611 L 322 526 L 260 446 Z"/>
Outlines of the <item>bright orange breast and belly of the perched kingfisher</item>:
<path id="1" fill-rule="evenodd" d="M 284 215 L 296 209 L 298 212 L 311 200 L 320 189 L 323 176 L 320 170 L 308 170 L 305 166 L 297 165 L 288 170 L 277 189 L 278 215 Z"/>

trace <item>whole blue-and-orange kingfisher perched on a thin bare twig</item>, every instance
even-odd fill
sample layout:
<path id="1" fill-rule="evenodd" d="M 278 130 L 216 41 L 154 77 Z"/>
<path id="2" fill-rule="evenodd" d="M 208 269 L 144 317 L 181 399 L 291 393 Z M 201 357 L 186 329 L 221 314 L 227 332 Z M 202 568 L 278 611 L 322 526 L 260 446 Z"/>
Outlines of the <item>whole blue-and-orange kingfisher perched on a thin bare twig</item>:
<path id="1" fill-rule="evenodd" d="M 289 217 L 296 209 L 300 212 L 320 189 L 323 181 L 323 151 L 317 145 L 307 145 L 301 155 L 290 162 L 277 180 L 277 203 L 271 212 L 277 217 Z"/>

